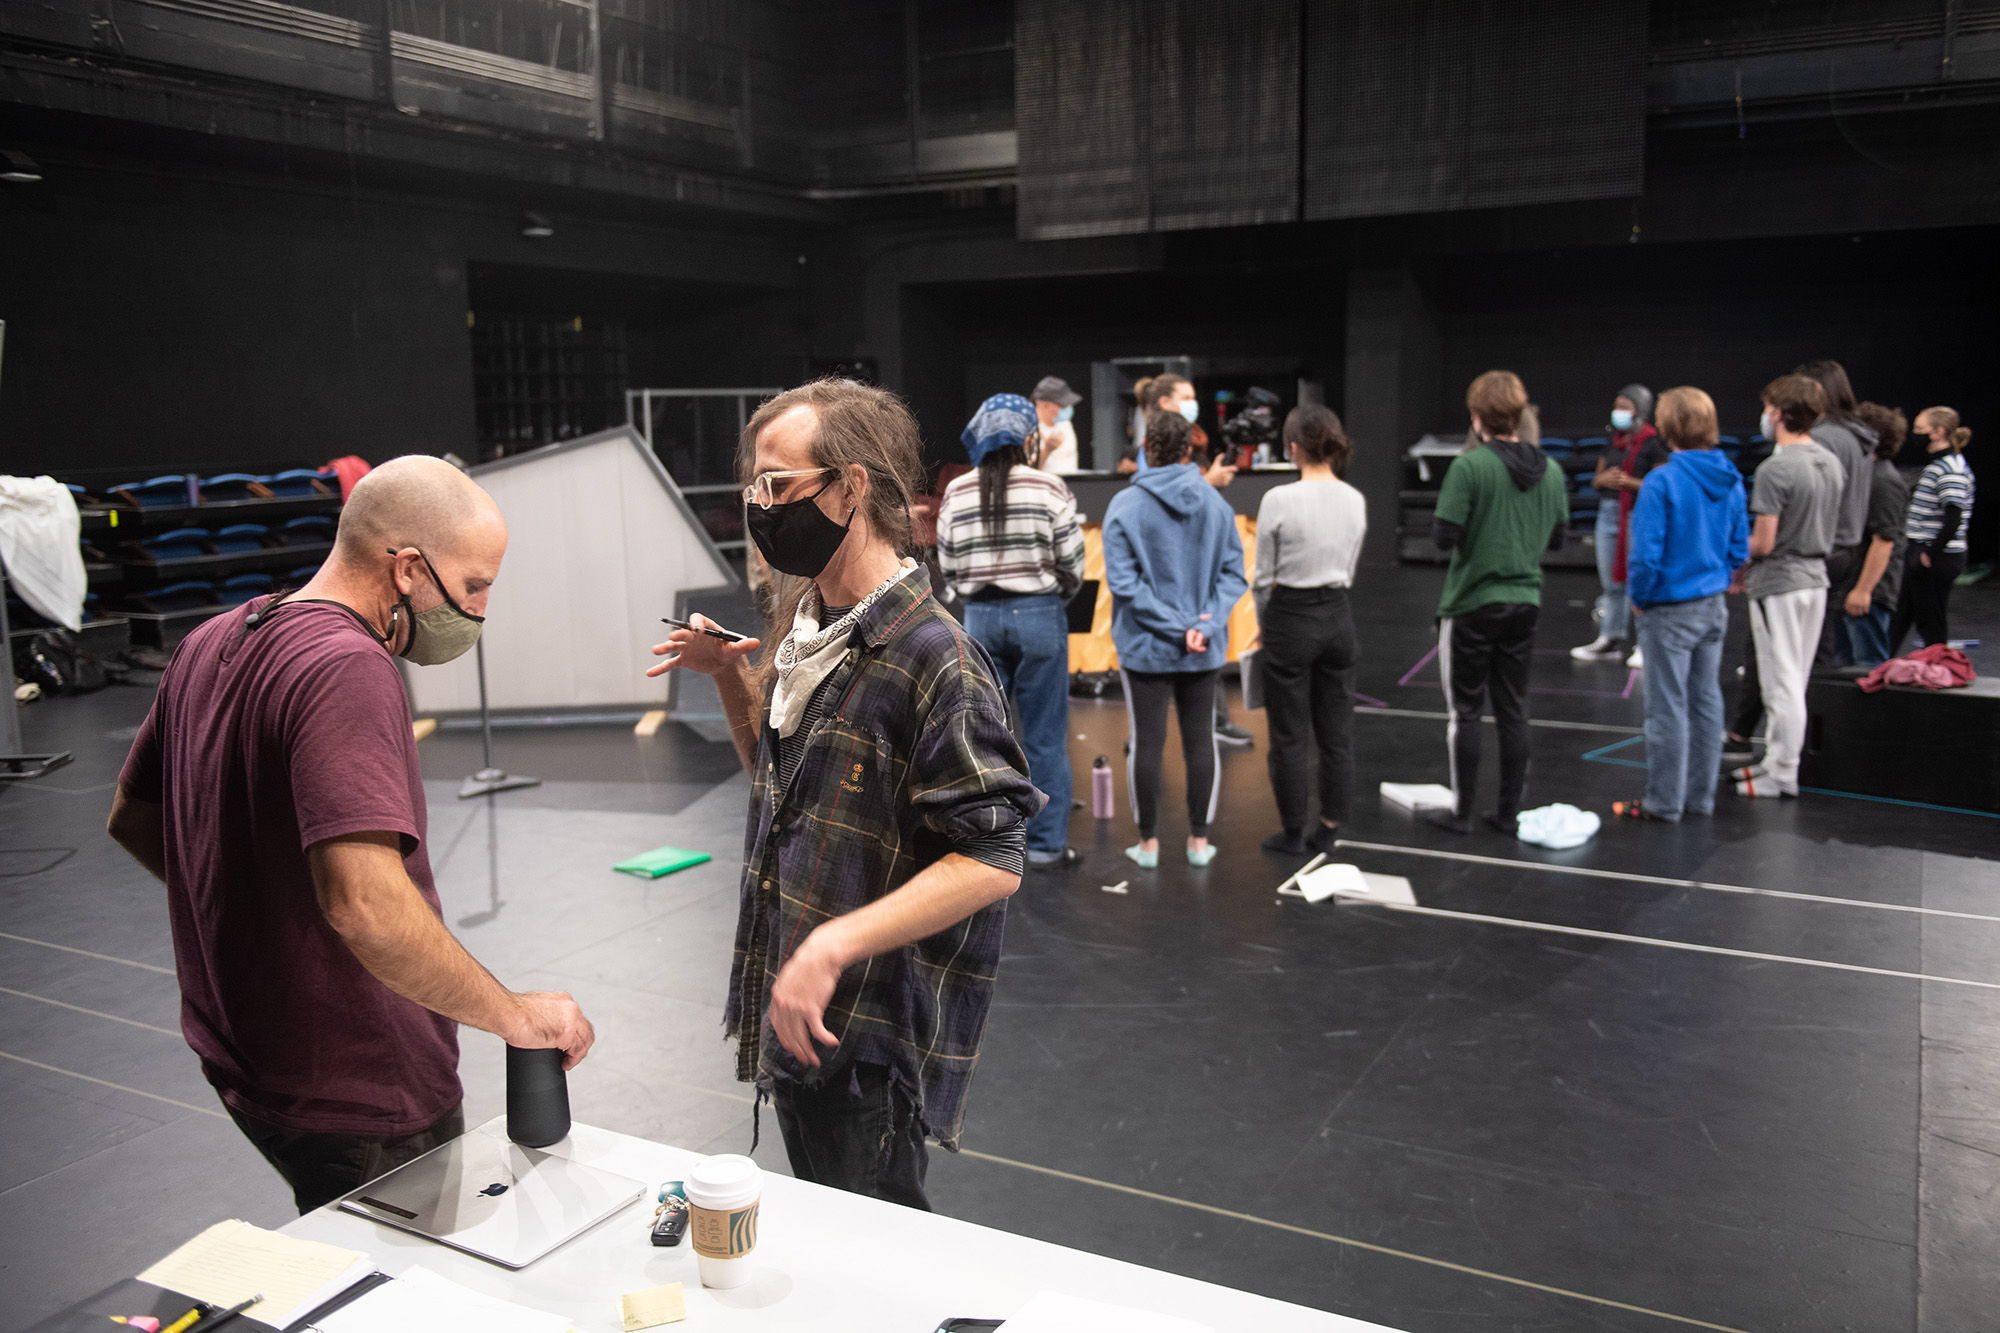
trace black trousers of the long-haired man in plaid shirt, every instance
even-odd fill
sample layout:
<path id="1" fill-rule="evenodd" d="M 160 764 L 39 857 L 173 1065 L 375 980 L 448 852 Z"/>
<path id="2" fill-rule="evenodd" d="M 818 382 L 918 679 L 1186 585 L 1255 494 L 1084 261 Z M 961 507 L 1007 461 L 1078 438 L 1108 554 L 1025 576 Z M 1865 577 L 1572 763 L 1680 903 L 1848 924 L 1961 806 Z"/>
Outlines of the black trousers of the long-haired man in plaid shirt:
<path id="1" fill-rule="evenodd" d="M 924 1195 L 924 1119 L 916 1099 L 890 1081 L 888 1065 L 854 1061 L 822 1087 L 778 1081 L 778 1133 L 792 1175 L 850 1195 L 930 1211 Z"/>

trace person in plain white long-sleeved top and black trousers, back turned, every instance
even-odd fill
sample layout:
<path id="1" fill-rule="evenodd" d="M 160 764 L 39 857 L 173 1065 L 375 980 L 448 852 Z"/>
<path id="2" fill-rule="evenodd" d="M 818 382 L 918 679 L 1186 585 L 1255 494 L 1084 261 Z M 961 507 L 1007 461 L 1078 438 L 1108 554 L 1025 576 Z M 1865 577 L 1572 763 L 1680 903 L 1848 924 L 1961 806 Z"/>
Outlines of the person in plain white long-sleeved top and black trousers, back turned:
<path id="1" fill-rule="evenodd" d="M 1264 849 L 1334 849 L 1354 797 L 1354 614 L 1348 588 L 1368 534 L 1362 492 L 1342 480 L 1354 442 L 1322 404 L 1292 408 L 1284 446 L 1300 478 L 1264 492 L 1256 512 L 1258 660 L 1270 725 L 1270 787 L 1280 833 Z M 1306 835 L 1308 747 L 1318 749 L 1320 823 Z"/>

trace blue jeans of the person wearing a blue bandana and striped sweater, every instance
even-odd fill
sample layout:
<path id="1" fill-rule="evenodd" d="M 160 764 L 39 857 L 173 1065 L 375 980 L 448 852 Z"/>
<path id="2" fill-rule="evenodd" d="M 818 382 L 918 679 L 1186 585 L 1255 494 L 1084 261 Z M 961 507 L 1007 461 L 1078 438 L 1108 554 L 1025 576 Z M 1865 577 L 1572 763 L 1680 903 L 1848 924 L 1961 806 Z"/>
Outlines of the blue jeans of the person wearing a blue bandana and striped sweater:
<path id="1" fill-rule="evenodd" d="M 1062 598 L 1008 596 L 966 602 L 966 632 L 1000 671 L 1000 689 L 1020 713 L 1028 779 L 1048 797 L 1028 821 L 1030 853 L 1060 853 L 1070 841 L 1070 620 Z"/>

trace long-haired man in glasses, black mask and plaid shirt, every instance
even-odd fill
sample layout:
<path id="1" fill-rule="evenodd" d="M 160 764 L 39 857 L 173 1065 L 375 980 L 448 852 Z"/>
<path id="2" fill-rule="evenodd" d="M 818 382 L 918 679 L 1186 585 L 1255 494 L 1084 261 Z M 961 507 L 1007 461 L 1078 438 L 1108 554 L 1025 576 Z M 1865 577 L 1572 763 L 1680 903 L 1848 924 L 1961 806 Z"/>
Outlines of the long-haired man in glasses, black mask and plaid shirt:
<path id="1" fill-rule="evenodd" d="M 722 1021 L 794 1175 L 928 1209 L 924 1139 L 958 1147 L 1042 797 L 990 658 L 910 558 L 902 400 L 816 380 L 758 408 L 740 450 L 778 642 L 752 669 L 756 638 L 700 620 L 648 671 L 714 677 L 752 777 Z"/>

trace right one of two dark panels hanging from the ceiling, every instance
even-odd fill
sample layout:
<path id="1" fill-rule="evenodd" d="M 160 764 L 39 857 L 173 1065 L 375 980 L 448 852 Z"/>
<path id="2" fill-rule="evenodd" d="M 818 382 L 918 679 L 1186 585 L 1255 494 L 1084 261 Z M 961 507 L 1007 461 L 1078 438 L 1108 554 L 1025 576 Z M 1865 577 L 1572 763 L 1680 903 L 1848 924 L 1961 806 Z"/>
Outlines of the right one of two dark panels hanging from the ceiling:
<path id="1" fill-rule="evenodd" d="M 1304 0 L 1308 218 L 1638 194 L 1644 0 Z"/>

